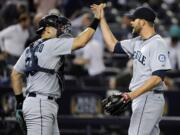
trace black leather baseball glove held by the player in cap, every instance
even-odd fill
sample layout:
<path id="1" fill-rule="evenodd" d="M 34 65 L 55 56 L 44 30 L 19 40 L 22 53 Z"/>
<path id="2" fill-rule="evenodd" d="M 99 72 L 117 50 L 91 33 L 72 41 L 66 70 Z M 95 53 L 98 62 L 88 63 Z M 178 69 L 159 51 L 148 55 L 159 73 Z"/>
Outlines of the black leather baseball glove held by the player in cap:
<path id="1" fill-rule="evenodd" d="M 112 95 L 102 100 L 104 110 L 110 115 L 120 115 L 131 103 L 127 93 Z"/>

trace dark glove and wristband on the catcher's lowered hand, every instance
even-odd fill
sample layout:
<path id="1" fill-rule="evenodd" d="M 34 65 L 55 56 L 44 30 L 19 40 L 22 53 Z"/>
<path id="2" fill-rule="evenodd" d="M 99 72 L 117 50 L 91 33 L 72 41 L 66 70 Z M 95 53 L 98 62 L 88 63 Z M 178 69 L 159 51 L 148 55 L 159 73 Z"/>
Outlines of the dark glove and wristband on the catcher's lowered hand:
<path id="1" fill-rule="evenodd" d="M 23 134 L 26 135 L 27 127 L 26 127 L 26 122 L 23 117 L 22 103 L 18 103 L 16 106 L 16 120 L 17 120 Z"/>

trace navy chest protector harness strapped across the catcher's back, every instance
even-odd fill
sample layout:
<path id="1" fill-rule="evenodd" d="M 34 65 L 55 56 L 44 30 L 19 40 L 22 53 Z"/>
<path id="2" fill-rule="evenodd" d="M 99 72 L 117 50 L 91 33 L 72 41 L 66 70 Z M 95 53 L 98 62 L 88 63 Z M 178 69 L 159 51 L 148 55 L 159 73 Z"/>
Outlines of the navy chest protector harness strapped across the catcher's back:
<path id="1" fill-rule="evenodd" d="M 39 45 L 42 44 L 45 40 L 40 42 L 38 45 L 34 47 L 34 43 L 30 45 L 29 52 L 30 56 L 28 56 L 25 60 L 25 67 L 26 67 L 26 76 L 33 76 L 37 72 L 44 72 L 48 74 L 56 74 L 58 81 L 59 81 L 59 86 L 60 90 L 64 89 L 63 82 L 64 82 L 64 56 L 60 56 L 59 62 L 56 65 L 55 69 L 48 69 L 44 68 L 38 65 L 38 57 L 35 55 L 36 50 L 39 48 Z"/>

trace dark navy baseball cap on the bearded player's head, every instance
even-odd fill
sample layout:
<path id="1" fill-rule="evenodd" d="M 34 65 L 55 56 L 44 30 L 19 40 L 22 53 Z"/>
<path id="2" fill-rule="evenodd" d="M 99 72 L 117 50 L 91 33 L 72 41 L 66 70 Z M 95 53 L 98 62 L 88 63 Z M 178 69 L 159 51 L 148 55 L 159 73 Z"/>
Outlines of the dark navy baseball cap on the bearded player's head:
<path id="1" fill-rule="evenodd" d="M 150 7 L 138 7 L 133 13 L 127 14 L 130 19 L 145 19 L 149 22 L 154 23 L 156 19 L 155 11 Z"/>

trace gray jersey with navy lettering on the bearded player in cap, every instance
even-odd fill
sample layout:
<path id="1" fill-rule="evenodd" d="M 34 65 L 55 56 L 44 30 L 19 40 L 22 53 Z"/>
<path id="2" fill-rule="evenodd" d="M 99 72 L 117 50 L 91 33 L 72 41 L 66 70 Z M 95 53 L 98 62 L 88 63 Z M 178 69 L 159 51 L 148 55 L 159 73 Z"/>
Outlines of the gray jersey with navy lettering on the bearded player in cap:
<path id="1" fill-rule="evenodd" d="M 148 40 L 136 37 L 120 43 L 123 50 L 133 58 L 133 78 L 129 86 L 130 90 L 133 91 L 143 85 L 153 72 L 171 69 L 168 50 L 160 35 L 154 35 Z M 163 90 L 163 82 L 154 89 Z"/>

